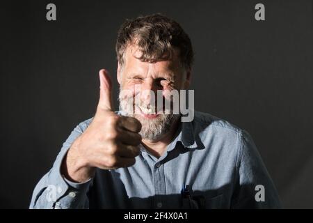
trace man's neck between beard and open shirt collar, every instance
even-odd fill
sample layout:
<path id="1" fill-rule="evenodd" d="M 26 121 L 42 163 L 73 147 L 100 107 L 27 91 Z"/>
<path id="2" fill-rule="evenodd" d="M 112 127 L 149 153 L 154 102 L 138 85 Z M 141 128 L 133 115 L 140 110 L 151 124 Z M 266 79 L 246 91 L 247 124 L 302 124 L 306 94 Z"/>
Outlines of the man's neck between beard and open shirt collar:
<path id="1" fill-rule="evenodd" d="M 142 144 L 147 149 L 147 151 L 149 151 L 157 158 L 161 157 L 161 155 L 166 151 L 166 147 L 172 142 L 175 137 L 175 133 L 177 132 L 177 128 L 179 126 L 179 120 L 180 118 L 172 123 L 170 131 L 166 132 L 166 134 L 163 134 L 160 139 L 143 139 Z"/>

